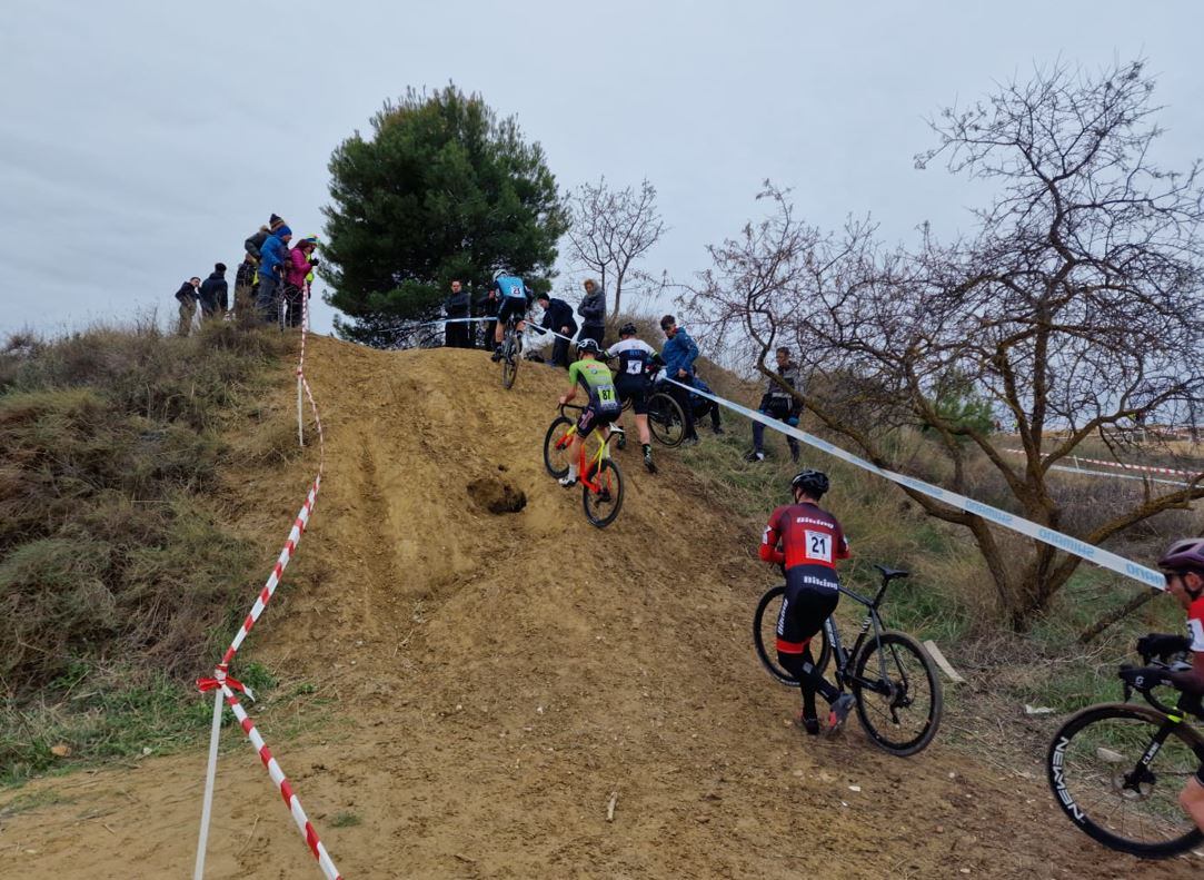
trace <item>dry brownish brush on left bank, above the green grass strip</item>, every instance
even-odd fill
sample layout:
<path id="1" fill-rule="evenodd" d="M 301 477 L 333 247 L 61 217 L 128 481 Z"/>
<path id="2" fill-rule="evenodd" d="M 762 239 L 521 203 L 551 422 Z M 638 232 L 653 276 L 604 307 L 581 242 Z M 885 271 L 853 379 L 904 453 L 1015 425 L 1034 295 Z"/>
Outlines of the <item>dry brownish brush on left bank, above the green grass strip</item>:
<path id="1" fill-rule="evenodd" d="M 10 697 L 53 691 L 81 667 L 100 679 L 118 664 L 195 673 L 253 563 L 211 514 L 231 454 L 218 429 L 243 417 L 236 405 L 291 345 L 224 323 L 188 339 L 143 322 L 10 340 L 0 354 Z"/>

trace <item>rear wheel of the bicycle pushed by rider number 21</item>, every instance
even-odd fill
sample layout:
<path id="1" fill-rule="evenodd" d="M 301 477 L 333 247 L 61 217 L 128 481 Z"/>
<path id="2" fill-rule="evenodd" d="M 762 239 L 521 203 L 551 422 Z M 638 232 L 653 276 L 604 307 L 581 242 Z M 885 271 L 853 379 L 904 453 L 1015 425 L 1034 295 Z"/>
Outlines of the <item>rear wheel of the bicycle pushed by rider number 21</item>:
<path id="1" fill-rule="evenodd" d="M 910 635 L 886 632 L 867 641 L 854 662 L 851 690 L 866 734 L 891 755 L 915 755 L 937 735 L 940 679 Z"/>

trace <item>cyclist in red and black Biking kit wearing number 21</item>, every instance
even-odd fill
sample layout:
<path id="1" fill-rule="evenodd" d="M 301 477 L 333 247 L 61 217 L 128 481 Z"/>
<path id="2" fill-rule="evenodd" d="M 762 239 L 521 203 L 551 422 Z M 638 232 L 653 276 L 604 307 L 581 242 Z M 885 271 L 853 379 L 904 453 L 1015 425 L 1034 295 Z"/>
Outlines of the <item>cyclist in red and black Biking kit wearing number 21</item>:
<path id="1" fill-rule="evenodd" d="M 799 721 L 813 737 L 820 732 L 815 693 L 831 705 L 828 733 L 844 724 L 854 705 L 815 668 L 810 640 L 840 602 L 836 561 L 848 559 L 849 541 L 836 517 L 819 506 L 828 491 L 827 475 L 802 470 L 790 481 L 795 503 L 773 511 L 761 541 L 761 558 L 786 569 L 786 594 L 778 615 L 778 662 L 798 679 L 803 696 Z"/>

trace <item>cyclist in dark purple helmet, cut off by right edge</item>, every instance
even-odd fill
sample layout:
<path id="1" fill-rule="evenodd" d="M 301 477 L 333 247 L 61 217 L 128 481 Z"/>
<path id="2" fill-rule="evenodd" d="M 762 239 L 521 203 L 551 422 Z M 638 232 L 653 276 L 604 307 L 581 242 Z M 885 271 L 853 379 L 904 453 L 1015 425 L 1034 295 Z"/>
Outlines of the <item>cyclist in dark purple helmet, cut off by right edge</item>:
<path id="1" fill-rule="evenodd" d="M 1121 677 L 1138 690 L 1170 685 L 1184 693 L 1204 696 L 1204 538 L 1175 541 L 1158 559 L 1167 577 L 1167 592 L 1187 611 L 1190 635 L 1150 633 L 1137 643 L 1143 656 L 1169 657 L 1191 651 L 1192 668 L 1173 673 L 1162 667 L 1121 670 Z M 1199 703 L 1197 702 L 1197 712 Z M 1179 794 L 1180 805 L 1200 831 L 1204 831 L 1204 764 Z"/>

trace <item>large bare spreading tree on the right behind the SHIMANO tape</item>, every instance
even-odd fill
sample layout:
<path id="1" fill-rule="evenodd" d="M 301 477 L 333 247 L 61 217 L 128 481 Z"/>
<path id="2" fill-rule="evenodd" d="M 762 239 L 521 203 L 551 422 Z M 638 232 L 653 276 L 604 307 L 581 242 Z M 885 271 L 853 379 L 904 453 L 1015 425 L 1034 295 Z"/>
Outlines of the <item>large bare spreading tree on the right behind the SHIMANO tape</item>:
<path id="1" fill-rule="evenodd" d="M 923 228 L 914 252 L 889 252 L 868 223 L 825 236 L 767 188 L 774 216 L 712 248 L 715 266 L 687 299 L 713 332 L 751 338 L 767 376 L 773 346 L 798 345 L 815 375 L 797 397 L 880 467 L 904 469 L 892 428 L 925 427 L 952 462 L 951 488 L 967 493 L 976 450 L 1008 506 L 1093 545 L 1185 508 L 1204 497 L 1200 477 L 1162 494 L 1146 483 L 1126 509 L 1074 511 L 1072 523 L 1073 501 L 1049 480 L 1105 429 L 1184 423 L 1204 391 L 1204 195 L 1196 165 L 1171 174 L 1150 160 L 1151 90 L 1140 63 L 1094 77 L 1056 68 L 944 111 L 939 146 L 917 164 L 943 156 L 998 184 L 968 240 L 940 245 Z M 942 406 L 942 388 L 967 382 L 1015 421 L 1022 458 Z M 903 491 L 970 532 L 1017 629 L 1081 562 Z"/>

